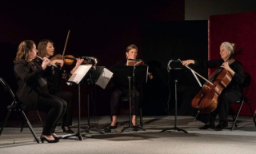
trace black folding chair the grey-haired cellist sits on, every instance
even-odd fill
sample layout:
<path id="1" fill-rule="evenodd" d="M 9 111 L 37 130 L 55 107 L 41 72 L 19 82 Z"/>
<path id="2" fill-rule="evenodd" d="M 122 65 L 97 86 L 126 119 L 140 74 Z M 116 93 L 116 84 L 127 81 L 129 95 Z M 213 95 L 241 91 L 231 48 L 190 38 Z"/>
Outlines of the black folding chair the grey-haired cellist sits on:
<path id="1" fill-rule="evenodd" d="M 253 110 L 251 108 L 251 105 L 250 105 L 250 101 L 247 97 L 247 92 L 250 88 L 250 82 L 251 82 L 251 77 L 250 77 L 250 74 L 249 73 L 244 73 L 244 77 L 245 77 L 245 80 L 242 84 L 242 97 L 239 101 L 235 101 L 235 102 L 231 102 L 230 103 L 230 110 L 231 110 L 231 113 L 232 113 L 232 118 L 234 120 L 233 124 L 232 124 L 232 127 L 230 128 L 230 131 L 232 131 L 234 129 L 234 126 L 237 128 L 237 120 L 238 120 L 238 116 L 239 116 L 239 113 L 242 109 L 242 106 L 246 103 L 250 109 L 250 114 L 253 118 L 253 121 L 254 121 L 254 125 L 256 127 L 256 120 L 255 120 L 255 116 L 254 116 L 254 113 L 253 113 Z M 236 116 L 234 117 L 234 109 L 231 108 L 231 104 L 234 104 L 234 103 L 238 103 L 240 104 L 240 107 L 238 109 L 238 113 L 236 114 Z"/>

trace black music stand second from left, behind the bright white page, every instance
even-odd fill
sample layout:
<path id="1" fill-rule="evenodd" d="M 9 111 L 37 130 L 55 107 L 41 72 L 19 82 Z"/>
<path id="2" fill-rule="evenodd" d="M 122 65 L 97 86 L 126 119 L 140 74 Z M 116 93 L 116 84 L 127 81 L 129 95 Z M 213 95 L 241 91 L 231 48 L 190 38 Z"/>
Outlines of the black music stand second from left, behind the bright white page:
<path id="1" fill-rule="evenodd" d="M 92 66 L 92 68 L 89 70 L 88 73 L 86 73 L 86 77 L 84 77 L 83 80 L 86 80 L 87 85 L 95 86 L 95 83 L 98 81 L 98 77 L 101 75 L 104 66 Z M 100 132 L 101 134 L 104 134 L 100 129 L 98 128 L 90 128 L 90 93 L 92 93 L 91 88 L 89 88 L 89 92 L 87 94 L 87 128 L 85 131 L 82 132 Z"/>

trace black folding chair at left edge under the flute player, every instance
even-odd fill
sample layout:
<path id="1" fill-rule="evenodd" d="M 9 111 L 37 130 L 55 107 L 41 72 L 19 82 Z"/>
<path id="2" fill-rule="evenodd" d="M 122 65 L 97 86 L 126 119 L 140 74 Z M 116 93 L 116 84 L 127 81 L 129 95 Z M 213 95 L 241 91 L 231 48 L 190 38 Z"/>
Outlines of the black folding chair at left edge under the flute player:
<path id="1" fill-rule="evenodd" d="M 0 77 L 0 84 L 2 86 L 2 88 L 6 91 L 6 93 L 10 94 L 10 97 L 12 97 L 12 102 L 10 105 L 7 106 L 8 109 L 8 113 L 6 115 L 6 119 L 4 120 L 3 124 L 2 124 L 2 128 L 0 130 L 0 136 L 2 134 L 2 130 L 3 128 L 6 126 L 6 122 L 10 116 L 10 113 L 12 111 L 18 111 L 19 113 L 21 113 L 23 121 L 26 122 L 26 124 L 29 126 L 30 128 L 30 132 L 32 133 L 32 135 L 34 136 L 34 139 L 37 141 L 37 143 L 39 143 L 38 140 L 38 136 L 36 135 L 36 133 L 34 132 L 34 128 L 32 127 L 32 125 L 30 124 L 30 121 L 28 120 L 28 118 L 26 117 L 26 114 L 24 113 L 24 110 L 26 109 L 25 105 L 22 105 L 22 103 L 20 101 L 18 101 L 18 97 L 16 96 L 16 94 L 13 92 L 12 89 L 10 89 L 10 86 L 6 83 L 5 80 L 2 79 L 2 77 Z M 40 117 L 40 116 L 39 116 Z M 23 126 L 22 126 L 23 128 Z M 21 130 L 22 131 L 22 130 Z"/>

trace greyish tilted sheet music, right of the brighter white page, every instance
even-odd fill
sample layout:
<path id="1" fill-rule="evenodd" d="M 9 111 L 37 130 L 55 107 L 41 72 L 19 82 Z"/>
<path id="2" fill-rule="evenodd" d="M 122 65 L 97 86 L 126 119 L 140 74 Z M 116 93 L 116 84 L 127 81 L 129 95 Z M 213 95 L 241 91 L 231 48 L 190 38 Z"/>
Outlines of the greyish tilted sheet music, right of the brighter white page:
<path id="1" fill-rule="evenodd" d="M 95 84 L 105 89 L 111 77 L 113 77 L 113 73 L 109 69 L 104 68 Z"/>

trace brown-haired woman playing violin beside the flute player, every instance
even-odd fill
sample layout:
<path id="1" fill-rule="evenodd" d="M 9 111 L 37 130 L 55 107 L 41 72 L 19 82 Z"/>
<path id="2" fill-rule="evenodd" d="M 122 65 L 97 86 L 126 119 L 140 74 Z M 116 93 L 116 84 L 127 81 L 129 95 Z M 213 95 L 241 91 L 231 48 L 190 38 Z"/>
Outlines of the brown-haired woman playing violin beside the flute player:
<path id="1" fill-rule="evenodd" d="M 60 58 L 54 57 L 54 42 L 48 39 L 43 39 L 38 43 L 38 56 L 39 57 L 47 57 L 51 60 L 52 63 L 55 65 L 59 65 L 57 68 L 52 66 L 52 71 L 50 74 L 46 74 L 46 80 L 48 82 L 48 89 L 50 94 L 60 97 L 67 102 L 67 109 L 66 113 L 63 116 L 62 121 L 62 129 L 63 132 L 66 133 L 74 133 L 70 126 L 72 125 L 72 115 L 71 115 L 71 101 L 72 101 L 72 93 L 68 91 L 61 90 L 61 80 L 62 78 L 68 79 L 72 73 L 78 66 L 82 64 L 84 61 L 83 59 L 76 59 L 76 65 L 70 71 L 69 75 L 66 75 L 66 70 L 63 69 L 64 61 Z M 53 58 L 54 57 L 54 58 Z"/>

